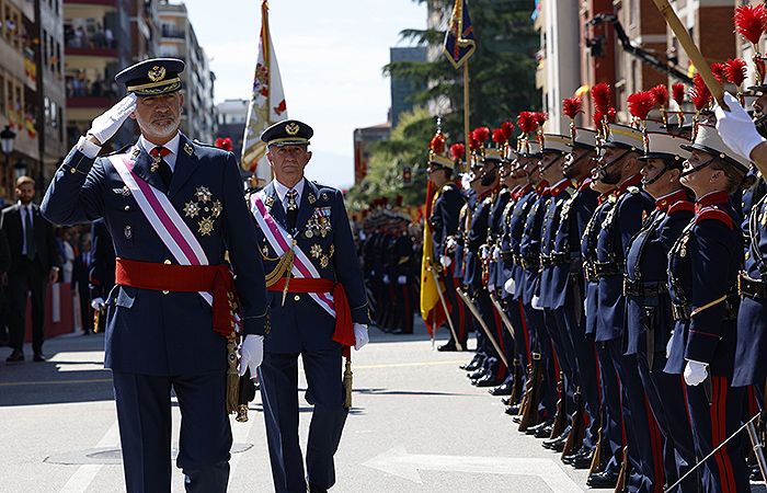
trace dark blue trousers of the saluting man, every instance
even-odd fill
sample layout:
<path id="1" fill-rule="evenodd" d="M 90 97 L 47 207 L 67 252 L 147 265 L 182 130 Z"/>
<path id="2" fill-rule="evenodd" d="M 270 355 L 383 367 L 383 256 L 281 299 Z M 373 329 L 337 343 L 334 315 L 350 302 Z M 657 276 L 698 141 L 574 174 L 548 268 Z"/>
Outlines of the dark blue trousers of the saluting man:
<path id="1" fill-rule="evenodd" d="M 226 492 L 231 428 L 226 372 L 158 377 L 113 370 L 128 493 L 171 490 L 171 387 L 181 410 L 176 466 L 187 492 Z"/>

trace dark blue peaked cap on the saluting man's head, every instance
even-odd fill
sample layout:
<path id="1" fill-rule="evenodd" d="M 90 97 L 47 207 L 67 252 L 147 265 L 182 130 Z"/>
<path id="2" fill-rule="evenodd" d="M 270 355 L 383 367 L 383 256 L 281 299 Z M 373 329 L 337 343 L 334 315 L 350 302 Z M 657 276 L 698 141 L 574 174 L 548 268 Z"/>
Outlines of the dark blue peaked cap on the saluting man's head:
<path id="1" fill-rule="evenodd" d="M 125 84 L 128 92 L 138 96 L 167 94 L 181 90 L 179 73 L 184 67 L 184 61 L 178 58 L 150 58 L 117 73 L 115 82 Z"/>

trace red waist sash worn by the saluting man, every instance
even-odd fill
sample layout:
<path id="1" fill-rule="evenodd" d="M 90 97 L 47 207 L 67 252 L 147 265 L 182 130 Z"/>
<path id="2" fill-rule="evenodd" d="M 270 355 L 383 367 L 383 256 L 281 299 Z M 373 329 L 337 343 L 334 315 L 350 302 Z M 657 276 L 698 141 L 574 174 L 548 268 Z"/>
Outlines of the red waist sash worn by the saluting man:
<path id="1" fill-rule="evenodd" d="M 237 297 L 227 265 L 158 264 L 117 257 L 115 284 L 156 291 L 211 293 L 213 330 L 225 337 L 234 331 Z"/>

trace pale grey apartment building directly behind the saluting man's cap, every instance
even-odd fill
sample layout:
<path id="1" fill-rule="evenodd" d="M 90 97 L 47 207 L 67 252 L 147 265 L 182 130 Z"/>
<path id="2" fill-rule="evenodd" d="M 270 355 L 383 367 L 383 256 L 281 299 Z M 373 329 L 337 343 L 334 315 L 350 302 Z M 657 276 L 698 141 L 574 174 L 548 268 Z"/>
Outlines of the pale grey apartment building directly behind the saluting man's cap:
<path id="1" fill-rule="evenodd" d="M 181 58 L 186 62 L 186 69 L 181 74 L 184 84 L 181 129 L 193 139 L 213 142 L 216 137 L 216 77 L 210 71 L 205 50 L 197 42 L 186 5 L 161 2 L 158 9 L 160 56 Z"/>

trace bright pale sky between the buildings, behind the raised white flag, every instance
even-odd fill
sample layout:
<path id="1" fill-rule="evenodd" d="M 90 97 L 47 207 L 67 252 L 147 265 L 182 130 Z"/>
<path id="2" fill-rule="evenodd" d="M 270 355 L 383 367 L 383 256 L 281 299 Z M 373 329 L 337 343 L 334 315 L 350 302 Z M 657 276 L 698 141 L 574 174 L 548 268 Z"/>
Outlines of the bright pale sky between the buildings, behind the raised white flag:
<path id="1" fill-rule="evenodd" d="M 260 0 L 186 0 L 216 72 L 216 102 L 250 98 L 261 26 Z M 354 182 L 353 130 L 386 122 L 391 104 L 381 67 L 403 28 L 422 28 L 412 0 L 272 0 L 270 27 L 288 114 L 314 128 L 307 176 Z"/>

